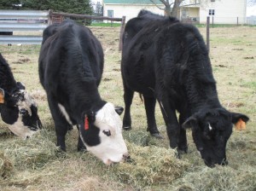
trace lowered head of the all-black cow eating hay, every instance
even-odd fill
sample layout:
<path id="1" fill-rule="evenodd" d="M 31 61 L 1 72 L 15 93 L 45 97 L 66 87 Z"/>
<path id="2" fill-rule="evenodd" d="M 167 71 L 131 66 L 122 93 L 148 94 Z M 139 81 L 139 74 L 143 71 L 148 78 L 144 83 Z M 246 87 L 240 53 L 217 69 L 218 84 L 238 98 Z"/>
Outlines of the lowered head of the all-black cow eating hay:
<path id="1" fill-rule="evenodd" d="M 192 128 L 192 136 L 201 158 L 208 166 L 227 165 L 226 143 L 232 133 L 232 126 L 241 119 L 249 119 L 241 113 L 230 113 L 224 108 L 195 113 L 183 123 Z"/>

